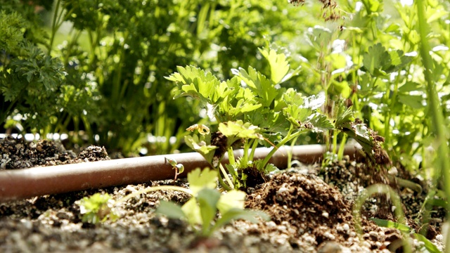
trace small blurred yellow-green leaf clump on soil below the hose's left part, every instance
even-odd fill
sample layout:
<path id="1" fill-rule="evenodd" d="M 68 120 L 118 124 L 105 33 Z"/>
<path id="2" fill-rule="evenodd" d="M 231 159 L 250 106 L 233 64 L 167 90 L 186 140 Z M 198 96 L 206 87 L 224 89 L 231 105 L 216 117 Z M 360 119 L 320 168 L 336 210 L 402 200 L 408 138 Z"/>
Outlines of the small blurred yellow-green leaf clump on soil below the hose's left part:
<path id="1" fill-rule="evenodd" d="M 113 210 L 114 201 L 110 195 L 96 193 L 91 197 L 84 197 L 79 201 L 79 212 L 82 221 L 87 223 L 98 223 L 110 219 L 115 221 L 119 216 Z"/>

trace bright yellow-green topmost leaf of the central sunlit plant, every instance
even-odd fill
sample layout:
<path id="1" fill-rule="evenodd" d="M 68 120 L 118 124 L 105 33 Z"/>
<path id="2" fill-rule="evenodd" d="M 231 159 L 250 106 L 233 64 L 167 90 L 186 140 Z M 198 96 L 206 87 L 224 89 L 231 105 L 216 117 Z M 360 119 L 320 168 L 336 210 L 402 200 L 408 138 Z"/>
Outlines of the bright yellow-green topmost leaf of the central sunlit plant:
<path id="1" fill-rule="evenodd" d="M 270 77 L 274 84 L 280 83 L 288 74 L 289 62 L 284 53 L 276 53 L 274 49 L 267 51 L 266 48 L 258 48 L 259 52 L 269 61 Z"/>

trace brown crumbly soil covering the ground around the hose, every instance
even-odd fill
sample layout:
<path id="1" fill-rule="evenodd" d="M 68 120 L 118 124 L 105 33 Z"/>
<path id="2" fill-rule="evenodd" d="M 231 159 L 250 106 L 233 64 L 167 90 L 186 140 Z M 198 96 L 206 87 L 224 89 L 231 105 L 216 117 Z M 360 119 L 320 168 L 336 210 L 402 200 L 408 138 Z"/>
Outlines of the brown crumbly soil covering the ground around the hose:
<path id="1" fill-rule="evenodd" d="M 96 146 L 76 155 L 51 141 L 0 140 L 1 169 L 108 159 L 106 150 Z M 297 166 L 271 174 L 264 179 L 266 182 L 246 189 L 245 206 L 266 212 L 271 221 L 233 221 L 212 238 L 200 240 L 195 228 L 186 222 L 155 214 L 160 200 L 179 204 L 188 200 L 186 193 L 165 190 L 121 203 L 117 221 L 96 225 L 82 222 L 77 203 L 94 193 L 108 193 L 118 200 L 148 186 L 175 184 L 188 188 L 186 179 L 153 181 L 0 203 L 0 252 L 401 252 L 401 233 L 394 228 L 380 228 L 370 220 L 395 220 L 386 197 L 366 201 L 361 210 L 364 232 L 359 235 L 355 230 L 355 197 L 376 183 L 376 171 L 368 169 L 364 162 L 348 159 L 325 168 L 293 164 Z M 406 171 L 398 169 L 398 174 L 413 180 Z M 419 229 L 416 221 L 425 191 L 399 188 L 398 192 L 408 225 Z M 443 217 L 442 209 L 432 213 L 427 235 L 440 249 L 439 224 Z M 416 250 L 423 246 L 410 240 Z"/>

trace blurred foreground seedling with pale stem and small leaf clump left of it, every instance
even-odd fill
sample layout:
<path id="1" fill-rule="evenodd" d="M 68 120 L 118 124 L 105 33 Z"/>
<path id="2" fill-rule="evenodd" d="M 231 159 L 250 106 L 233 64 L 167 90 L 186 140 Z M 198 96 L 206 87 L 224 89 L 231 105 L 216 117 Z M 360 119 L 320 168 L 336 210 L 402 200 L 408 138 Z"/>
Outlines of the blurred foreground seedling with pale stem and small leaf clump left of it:
<path id="1" fill-rule="evenodd" d="M 116 214 L 115 208 L 121 202 L 156 190 L 179 190 L 192 196 L 183 207 L 161 200 L 156 212 L 173 219 L 185 219 L 193 228 L 200 226 L 198 230 L 200 237 L 210 237 L 214 231 L 232 220 L 245 219 L 257 223 L 260 221 L 257 217 L 263 220 L 269 219 L 269 216 L 263 212 L 244 209 L 245 193 L 243 191 L 230 190 L 227 193 L 220 193 L 217 190 L 217 171 L 195 169 L 188 174 L 188 183 L 189 188 L 149 187 L 126 195 L 117 201 L 112 200 L 107 193 L 104 195 L 96 193 L 91 197 L 84 197 L 78 203 L 82 221 L 94 224 L 108 219 L 116 221 L 120 219 L 120 216 Z M 216 219 L 217 212 L 219 212 L 218 219 Z"/>

